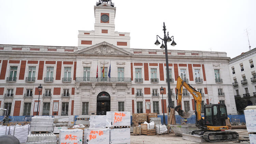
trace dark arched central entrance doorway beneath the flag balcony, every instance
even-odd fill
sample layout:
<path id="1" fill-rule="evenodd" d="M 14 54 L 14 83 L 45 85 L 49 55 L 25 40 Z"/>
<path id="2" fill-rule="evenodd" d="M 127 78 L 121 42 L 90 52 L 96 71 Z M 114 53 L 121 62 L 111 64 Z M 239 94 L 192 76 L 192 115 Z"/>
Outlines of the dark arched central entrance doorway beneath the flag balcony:
<path id="1" fill-rule="evenodd" d="M 106 115 L 110 111 L 110 95 L 102 91 L 97 96 L 97 115 Z"/>

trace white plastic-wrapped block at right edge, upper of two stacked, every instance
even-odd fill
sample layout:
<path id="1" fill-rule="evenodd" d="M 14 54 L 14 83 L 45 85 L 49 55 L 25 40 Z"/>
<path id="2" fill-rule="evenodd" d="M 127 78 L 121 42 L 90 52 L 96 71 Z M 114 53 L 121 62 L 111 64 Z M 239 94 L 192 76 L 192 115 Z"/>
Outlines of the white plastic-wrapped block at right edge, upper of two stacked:
<path id="1" fill-rule="evenodd" d="M 256 132 L 256 110 L 244 110 L 246 128 L 248 132 Z"/>

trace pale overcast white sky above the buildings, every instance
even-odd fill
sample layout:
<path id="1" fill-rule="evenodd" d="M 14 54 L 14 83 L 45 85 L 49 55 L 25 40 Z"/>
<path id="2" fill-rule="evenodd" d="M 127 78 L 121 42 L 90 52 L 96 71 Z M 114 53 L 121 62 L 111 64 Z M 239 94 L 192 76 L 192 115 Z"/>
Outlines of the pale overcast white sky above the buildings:
<path id="1" fill-rule="evenodd" d="M 94 30 L 97 0 L 0 0 L 0 44 L 77 46 L 78 30 Z M 168 49 L 226 52 L 256 47 L 256 0 L 112 0 L 115 31 L 131 48 L 160 49 L 162 25 L 177 43 Z"/>

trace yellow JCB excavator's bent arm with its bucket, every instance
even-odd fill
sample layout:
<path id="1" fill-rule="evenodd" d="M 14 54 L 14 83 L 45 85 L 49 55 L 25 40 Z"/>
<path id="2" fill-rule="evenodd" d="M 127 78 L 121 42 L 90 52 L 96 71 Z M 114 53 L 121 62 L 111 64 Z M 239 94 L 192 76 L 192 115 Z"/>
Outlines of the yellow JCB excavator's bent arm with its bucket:
<path id="1" fill-rule="evenodd" d="M 183 86 L 191 93 L 193 96 L 195 103 L 196 103 L 196 122 L 198 123 L 201 119 L 201 102 L 202 102 L 202 95 L 199 91 L 194 89 L 192 86 L 190 86 L 188 83 L 182 80 L 180 76 L 177 78 L 177 86 L 176 86 L 176 100 L 177 100 L 177 106 L 174 108 L 175 111 L 179 113 L 179 115 L 183 118 L 189 118 L 191 114 L 188 112 L 184 112 L 181 110 L 181 104 L 182 104 L 182 93 L 183 93 Z M 194 103 L 192 103 L 194 104 Z"/>

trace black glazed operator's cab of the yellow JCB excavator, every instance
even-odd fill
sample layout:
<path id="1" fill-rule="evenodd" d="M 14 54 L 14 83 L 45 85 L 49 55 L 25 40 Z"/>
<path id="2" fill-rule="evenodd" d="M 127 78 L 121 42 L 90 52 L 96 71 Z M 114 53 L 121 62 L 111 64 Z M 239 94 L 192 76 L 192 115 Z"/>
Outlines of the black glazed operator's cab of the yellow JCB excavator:
<path id="1" fill-rule="evenodd" d="M 226 126 L 228 119 L 225 104 L 204 105 L 204 124 L 205 126 Z"/>

